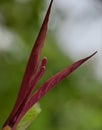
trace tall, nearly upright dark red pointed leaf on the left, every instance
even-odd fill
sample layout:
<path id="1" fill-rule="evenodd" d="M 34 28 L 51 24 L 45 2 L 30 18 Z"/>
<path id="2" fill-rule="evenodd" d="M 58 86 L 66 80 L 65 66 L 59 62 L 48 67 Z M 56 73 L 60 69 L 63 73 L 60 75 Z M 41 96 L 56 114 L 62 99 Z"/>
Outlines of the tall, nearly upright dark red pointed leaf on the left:
<path id="1" fill-rule="evenodd" d="M 8 124 L 10 122 L 10 120 L 13 120 L 15 114 L 19 110 L 19 107 L 22 106 L 24 99 L 27 97 L 27 93 L 29 90 L 29 82 L 31 80 L 31 77 L 37 73 L 37 69 L 39 66 L 39 60 L 40 60 L 40 53 L 41 53 L 42 47 L 44 45 L 44 40 L 46 37 L 47 25 L 48 25 L 52 2 L 53 2 L 53 0 L 51 0 L 51 2 L 50 2 L 44 22 L 42 24 L 42 27 L 40 29 L 40 32 L 38 34 L 34 47 L 32 49 L 31 55 L 29 57 L 16 103 L 14 105 L 14 108 L 13 108 L 10 116 L 8 117 L 7 121 L 5 122 L 4 126 L 6 124 Z"/>

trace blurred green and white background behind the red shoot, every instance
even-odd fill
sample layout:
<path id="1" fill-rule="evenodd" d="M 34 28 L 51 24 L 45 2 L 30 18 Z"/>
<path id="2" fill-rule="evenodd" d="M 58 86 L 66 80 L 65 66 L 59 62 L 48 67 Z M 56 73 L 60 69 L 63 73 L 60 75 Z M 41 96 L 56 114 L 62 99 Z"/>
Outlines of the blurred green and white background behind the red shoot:
<path id="1" fill-rule="evenodd" d="M 98 37 L 102 30 L 101 24 L 92 24 L 101 20 L 101 8 L 99 1 L 80 2 L 53 3 L 42 52 L 48 58 L 47 70 L 40 83 L 93 51 L 99 52 L 40 100 L 42 112 L 27 130 L 102 130 L 102 40 Z M 0 128 L 14 105 L 48 3 L 0 0 Z"/>

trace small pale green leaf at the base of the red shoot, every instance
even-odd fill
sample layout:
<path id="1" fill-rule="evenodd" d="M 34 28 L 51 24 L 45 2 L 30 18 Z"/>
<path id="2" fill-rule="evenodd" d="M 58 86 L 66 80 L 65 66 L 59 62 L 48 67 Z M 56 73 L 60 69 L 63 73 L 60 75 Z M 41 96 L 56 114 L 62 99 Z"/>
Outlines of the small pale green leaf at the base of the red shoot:
<path id="1" fill-rule="evenodd" d="M 35 120 L 40 112 L 40 104 L 36 103 L 21 119 L 17 126 L 17 130 L 26 130 L 26 128 Z"/>

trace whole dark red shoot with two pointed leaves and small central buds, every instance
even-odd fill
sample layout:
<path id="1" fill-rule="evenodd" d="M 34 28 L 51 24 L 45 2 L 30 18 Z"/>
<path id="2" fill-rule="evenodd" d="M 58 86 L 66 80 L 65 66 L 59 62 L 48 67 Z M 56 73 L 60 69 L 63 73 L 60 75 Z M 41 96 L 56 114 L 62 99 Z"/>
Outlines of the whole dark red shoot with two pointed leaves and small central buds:
<path id="1" fill-rule="evenodd" d="M 36 87 L 40 78 L 43 76 L 46 69 L 47 58 L 44 57 L 42 61 L 40 61 L 40 54 L 46 37 L 52 3 L 53 0 L 51 0 L 50 2 L 44 22 L 41 26 L 40 32 L 31 51 L 16 103 L 11 114 L 3 125 L 3 130 L 5 128 L 11 128 L 12 130 L 16 130 L 16 127 L 21 118 L 36 102 L 38 102 L 56 84 L 58 84 L 68 75 L 70 75 L 81 64 L 83 64 L 85 61 L 87 61 L 89 58 L 96 54 L 95 52 L 89 57 L 81 59 L 72 64 L 71 66 L 58 72 L 57 74 L 49 78 L 47 81 L 45 81 L 36 92 L 33 92 L 34 88 Z"/>

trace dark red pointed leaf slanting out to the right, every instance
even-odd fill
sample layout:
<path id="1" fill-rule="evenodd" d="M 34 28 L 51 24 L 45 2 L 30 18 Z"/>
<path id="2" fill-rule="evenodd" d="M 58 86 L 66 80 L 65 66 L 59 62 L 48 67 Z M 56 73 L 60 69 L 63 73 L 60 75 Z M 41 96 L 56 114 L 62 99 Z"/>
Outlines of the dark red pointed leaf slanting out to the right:
<path id="1" fill-rule="evenodd" d="M 34 93 L 34 95 L 31 97 L 29 102 L 26 104 L 24 108 L 24 112 L 26 112 L 30 107 L 32 107 L 33 104 L 35 104 L 38 100 L 40 100 L 50 89 L 52 89 L 55 85 L 57 85 L 60 81 L 62 81 L 64 78 L 69 76 L 73 71 L 75 71 L 81 64 L 83 64 L 85 61 L 87 61 L 89 58 L 94 56 L 97 53 L 93 53 L 92 55 L 81 59 L 71 66 L 63 69 L 62 71 L 56 73 L 51 78 L 49 78 L 45 83 L 43 83 L 40 88 Z"/>

